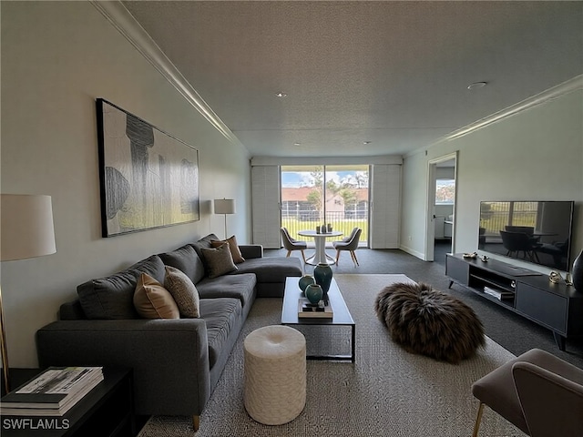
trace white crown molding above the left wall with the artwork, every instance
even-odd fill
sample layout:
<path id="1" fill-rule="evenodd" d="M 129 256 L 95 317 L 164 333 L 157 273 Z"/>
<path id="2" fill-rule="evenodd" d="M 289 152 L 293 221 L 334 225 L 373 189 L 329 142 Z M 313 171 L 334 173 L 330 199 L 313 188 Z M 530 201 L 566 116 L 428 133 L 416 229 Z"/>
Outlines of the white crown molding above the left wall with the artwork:
<path id="1" fill-rule="evenodd" d="M 91 0 L 91 4 L 106 17 L 118 32 L 124 36 L 128 42 L 138 49 L 148 62 L 156 68 L 159 73 L 174 86 L 180 95 L 184 97 L 192 107 L 194 107 L 202 117 L 205 117 L 210 124 L 215 127 L 232 144 L 241 146 L 239 138 L 230 131 L 222 120 L 215 114 L 210 106 L 204 101 L 199 93 L 189 84 L 179 69 L 172 64 L 169 58 L 162 52 L 160 47 L 148 35 L 146 30 L 139 25 L 138 21 L 131 15 L 124 5 L 119 1 L 98 1 Z"/>

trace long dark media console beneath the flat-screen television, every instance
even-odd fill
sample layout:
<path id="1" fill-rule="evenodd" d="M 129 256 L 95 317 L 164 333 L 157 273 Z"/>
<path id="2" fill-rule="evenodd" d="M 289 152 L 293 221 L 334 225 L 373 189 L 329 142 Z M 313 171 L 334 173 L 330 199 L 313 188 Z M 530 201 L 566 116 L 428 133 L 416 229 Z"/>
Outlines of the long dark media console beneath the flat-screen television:
<path id="1" fill-rule="evenodd" d="M 583 336 L 583 292 L 564 282 L 554 284 L 533 270 L 462 254 L 447 254 L 445 275 L 451 279 L 449 288 L 458 283 L 552 330 L 561 351 L 568 338 Z"/>

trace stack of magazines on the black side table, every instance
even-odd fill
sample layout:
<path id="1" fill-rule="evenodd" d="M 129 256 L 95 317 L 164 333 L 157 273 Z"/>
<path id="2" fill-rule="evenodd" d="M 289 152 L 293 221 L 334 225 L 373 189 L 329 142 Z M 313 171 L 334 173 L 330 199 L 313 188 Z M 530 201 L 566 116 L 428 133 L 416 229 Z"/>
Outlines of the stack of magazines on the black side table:
<path id="1" fill-rule="evenodd" d="M 101 367 L 51 367 L 6 394 L 0 400 L 0 413 L 62 416 L 101 381 Z"/>

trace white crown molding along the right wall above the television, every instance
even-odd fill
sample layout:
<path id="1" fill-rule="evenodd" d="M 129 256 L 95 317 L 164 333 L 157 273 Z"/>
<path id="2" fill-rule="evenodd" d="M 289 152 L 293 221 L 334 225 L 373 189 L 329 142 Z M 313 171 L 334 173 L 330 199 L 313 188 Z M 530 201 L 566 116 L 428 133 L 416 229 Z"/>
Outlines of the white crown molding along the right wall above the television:
<path id="1" fill-rule="evenodd" d="M 501 111 L 495 112 L 491 116 L 477 120 L 476 122 L 470 125 L 462 127 L 461 129 L 457 129 L 454 132 L 443 137 L 440 141 L 437 141 L 437 143 L 440 143 L 443 140 L 447 141 L 459 137 L 464 137 L 467 134 L 476 132 L 476 130 L 481 129 L 482 127 L 486 127 L 505 118 L 515 116 L 518 113 L 527 111 L 528 109 L 532 109 L 533 107 L 538 107 L 539 105 L 543 105 L 547 102 L 555 100 L 558 97 L 565 96 L 568 93 L 571 93 L 578 89 L 583 89 L 583 75 L 575 76 L 572 79 L 563 82 L 562 84 L 553 86 L 552 88 L 549 88 L 546 91 L 537 94 L 536 96 L 528 97 L 527 99 L 518 102 L 517 104 L 512 105 L 511 107 L 506 107 Z"/>

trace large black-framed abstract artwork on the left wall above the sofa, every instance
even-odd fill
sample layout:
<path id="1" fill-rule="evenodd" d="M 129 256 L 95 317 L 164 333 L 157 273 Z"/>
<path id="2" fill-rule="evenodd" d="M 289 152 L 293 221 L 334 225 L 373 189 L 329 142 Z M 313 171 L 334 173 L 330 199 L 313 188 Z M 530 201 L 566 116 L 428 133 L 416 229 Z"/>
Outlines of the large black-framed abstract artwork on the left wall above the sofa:
<path id="1" fill-rule="evenodd" d="M 200 219 L 199 151 L 97 98 L 103 237 Z"/>

